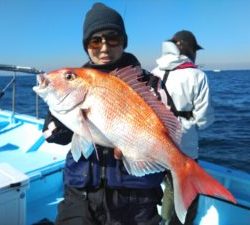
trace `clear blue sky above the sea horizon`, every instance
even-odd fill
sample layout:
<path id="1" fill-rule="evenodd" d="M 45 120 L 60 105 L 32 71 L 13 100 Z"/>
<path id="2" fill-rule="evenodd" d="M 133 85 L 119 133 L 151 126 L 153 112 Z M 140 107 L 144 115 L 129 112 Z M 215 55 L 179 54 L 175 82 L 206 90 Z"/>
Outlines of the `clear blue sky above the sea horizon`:
<path id="1" fill-rule="evenodd" d="M 249 0 L 0 0 L 0 64 L 44 71 L 80 67 L 86 12 L 103 2 L 123 17 L 131 52 L 148 70 L 161 44 L 192 31 L 204 69 L 250 69 Z"/>

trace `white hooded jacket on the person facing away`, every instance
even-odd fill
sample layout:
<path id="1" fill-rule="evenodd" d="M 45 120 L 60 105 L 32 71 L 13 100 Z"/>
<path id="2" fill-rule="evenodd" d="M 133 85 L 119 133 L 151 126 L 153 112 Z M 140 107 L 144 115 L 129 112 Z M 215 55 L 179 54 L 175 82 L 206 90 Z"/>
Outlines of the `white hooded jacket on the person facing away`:
<path id="1" fill-rule="evenodd" d="M 190 62 L 189 58 L 180 55 L 172 42 L 163 42 L 163 56 L 156 60 L 158 66 L 152 73 L 163 79 L 165 70 Z M 180 149 L 191 158 L 198 158 L 198 129 L 205 129 L 214 121 L 214 109 L 211 104 L 206 74 L 198 68 L 176 69 L 169 72 L 166 88 L 178 111 L 192 111 L 189 120 L 178 117 L 182 125 Z M 159 87 L 162 102 L 167 104 L 167 96 Z"/>

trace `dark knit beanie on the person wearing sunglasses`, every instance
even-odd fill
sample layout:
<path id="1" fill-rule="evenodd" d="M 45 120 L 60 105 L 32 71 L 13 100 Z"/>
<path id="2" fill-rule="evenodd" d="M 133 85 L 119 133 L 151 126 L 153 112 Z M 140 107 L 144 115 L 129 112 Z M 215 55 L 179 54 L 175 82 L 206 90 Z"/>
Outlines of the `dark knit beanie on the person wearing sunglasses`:
<path id="1" fill-rule="evenodd" d="M 109 29 L 115 30 L 123 36 L 123 48 L 125 49 L 128 38 L 121 15 L 103 3 L 95 3 L 87 12 L 83 24 L 83 47 L 85 51 L 87 51 L 87 42 L 94 33 Z"/>

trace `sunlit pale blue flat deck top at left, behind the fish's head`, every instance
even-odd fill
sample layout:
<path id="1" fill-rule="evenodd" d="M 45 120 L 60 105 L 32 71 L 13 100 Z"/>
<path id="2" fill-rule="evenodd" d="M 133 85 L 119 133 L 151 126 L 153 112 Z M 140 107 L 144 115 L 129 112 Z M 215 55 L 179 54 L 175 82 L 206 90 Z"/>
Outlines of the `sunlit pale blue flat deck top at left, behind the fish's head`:
<path id="1" fill-rule="evenodd" d="M 30 174 L 63 161 L 69 146 L 45 142 L 42 126 L 42 119 L 26 115 L 12 118 L 8 111 L 0 111 L 0 162 Z"/>

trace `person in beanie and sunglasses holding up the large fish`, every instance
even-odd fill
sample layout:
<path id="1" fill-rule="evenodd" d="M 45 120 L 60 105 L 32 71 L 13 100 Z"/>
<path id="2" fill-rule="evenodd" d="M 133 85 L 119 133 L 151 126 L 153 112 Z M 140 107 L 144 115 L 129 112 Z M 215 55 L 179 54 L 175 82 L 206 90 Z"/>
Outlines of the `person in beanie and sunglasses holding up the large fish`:
<path id="1" fill-rule="evenodd" d="M 83 47 L 89 56 L 84 68 L 111 72 L 129 65 L 140 66 L 130 53 L 124 52 L 128 38 L 122 17 L 102 3 L 88 11 L 83 28 Z M 144 81 L 148 78 L 145 76 Z M 114 87 L 115 89 L 116 87 Z M 48 142 L 68 144 L 72 132 L 47 116 L 45 135 Z M 129 175 L 119 152 L 97 145 L 88 159 L 75 162 L 67 154 L 64 171 L 65 194 L 58 208 L 57 225 L 157 225 L 161 217 L 161 182 L 164 173 L 143 177 Z"/>

